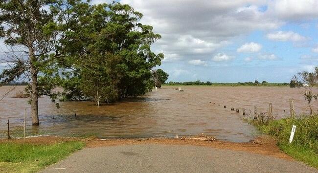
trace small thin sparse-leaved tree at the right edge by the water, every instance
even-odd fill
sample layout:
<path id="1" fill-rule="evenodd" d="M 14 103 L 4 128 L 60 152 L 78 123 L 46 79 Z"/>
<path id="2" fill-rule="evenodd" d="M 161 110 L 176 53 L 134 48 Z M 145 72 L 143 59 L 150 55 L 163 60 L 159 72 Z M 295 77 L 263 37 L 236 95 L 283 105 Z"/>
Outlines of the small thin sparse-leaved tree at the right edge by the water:
<path id="1" fill-rule="evenodd" d="M 307 101 L 310 109 L 310 115 L 312 115 L 313 108 L 311 106 L 311 101 L 313 99 L 317 100 L 318 98 L 318 66 L 315 67 L 314 72 L 298 72 L 297 75 L 294 76 L 293 80 Z"/>

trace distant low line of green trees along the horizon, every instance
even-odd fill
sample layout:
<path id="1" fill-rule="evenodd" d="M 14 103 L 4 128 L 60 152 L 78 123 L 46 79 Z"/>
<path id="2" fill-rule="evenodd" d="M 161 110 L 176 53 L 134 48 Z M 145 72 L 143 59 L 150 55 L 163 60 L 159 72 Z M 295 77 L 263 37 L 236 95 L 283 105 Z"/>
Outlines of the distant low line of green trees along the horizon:
<path id="1" fill-rule="evenodd" d="M 289 83 L 268 83 L 263 81 L 259 83 L 257 80 L 255 82 L 238 82 L 238 83 L 212 83 L 212 82 L 168 82 L 164 85 L 167 86 L 289 86 Z"/>

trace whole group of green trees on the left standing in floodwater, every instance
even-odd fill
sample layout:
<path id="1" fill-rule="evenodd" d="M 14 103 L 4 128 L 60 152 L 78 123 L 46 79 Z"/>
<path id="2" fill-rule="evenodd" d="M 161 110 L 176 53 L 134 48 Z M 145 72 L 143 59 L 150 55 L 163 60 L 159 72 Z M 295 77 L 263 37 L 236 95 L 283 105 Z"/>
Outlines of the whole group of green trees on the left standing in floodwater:
<path id="1" fill-rule="evenodd" d="M 29 81 L 33 125 L 39 125 L 41 95 L 99 105 L 153 87 L 151 69 L 163 54 L 152 52 L 151 44 L 161 36 L 140 23 L 143 15 L 127 4 L 1 0 L 0 12 L 0 37 L 12 50 L 0 59 L 10 64 L 0 85 Z M 64 91 L 53 92 L 57 86 Z"/>

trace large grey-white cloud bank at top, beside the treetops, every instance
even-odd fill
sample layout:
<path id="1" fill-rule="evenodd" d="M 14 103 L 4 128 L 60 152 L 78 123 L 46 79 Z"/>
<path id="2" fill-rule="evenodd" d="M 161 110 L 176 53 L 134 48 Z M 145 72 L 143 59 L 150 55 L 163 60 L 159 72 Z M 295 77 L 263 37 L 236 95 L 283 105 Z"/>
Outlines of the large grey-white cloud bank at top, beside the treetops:
<path id="1" fill-rule="evenodd" d="M 207 61 L 233 38 L 254 30 L 277 29 L 283 22 L 270 19 L 259 9 L 264 0 L 121 0 L 141 12 L 140 21 L 154 27 L 162 38 L 152 45 L 165 55 L 178 54 L 171 61 Z M 178 7 L 178 8 L 176 8 Z M 168 61 L 167 61 L 168 62 Z"/>

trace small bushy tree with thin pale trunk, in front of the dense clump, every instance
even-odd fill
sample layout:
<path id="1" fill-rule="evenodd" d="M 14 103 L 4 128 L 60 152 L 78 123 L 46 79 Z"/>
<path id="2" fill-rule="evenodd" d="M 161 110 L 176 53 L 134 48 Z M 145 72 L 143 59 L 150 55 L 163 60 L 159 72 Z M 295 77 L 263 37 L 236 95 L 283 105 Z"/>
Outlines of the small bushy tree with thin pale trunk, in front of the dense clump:
<path id="1" fill-rule="evenodd" d="M 120 57 L 110 53 L 92 53 L 81 61 L 79 88 L 85 96 L 93 98 L 97 106 L 117 99 L 120 80 Z"/>

